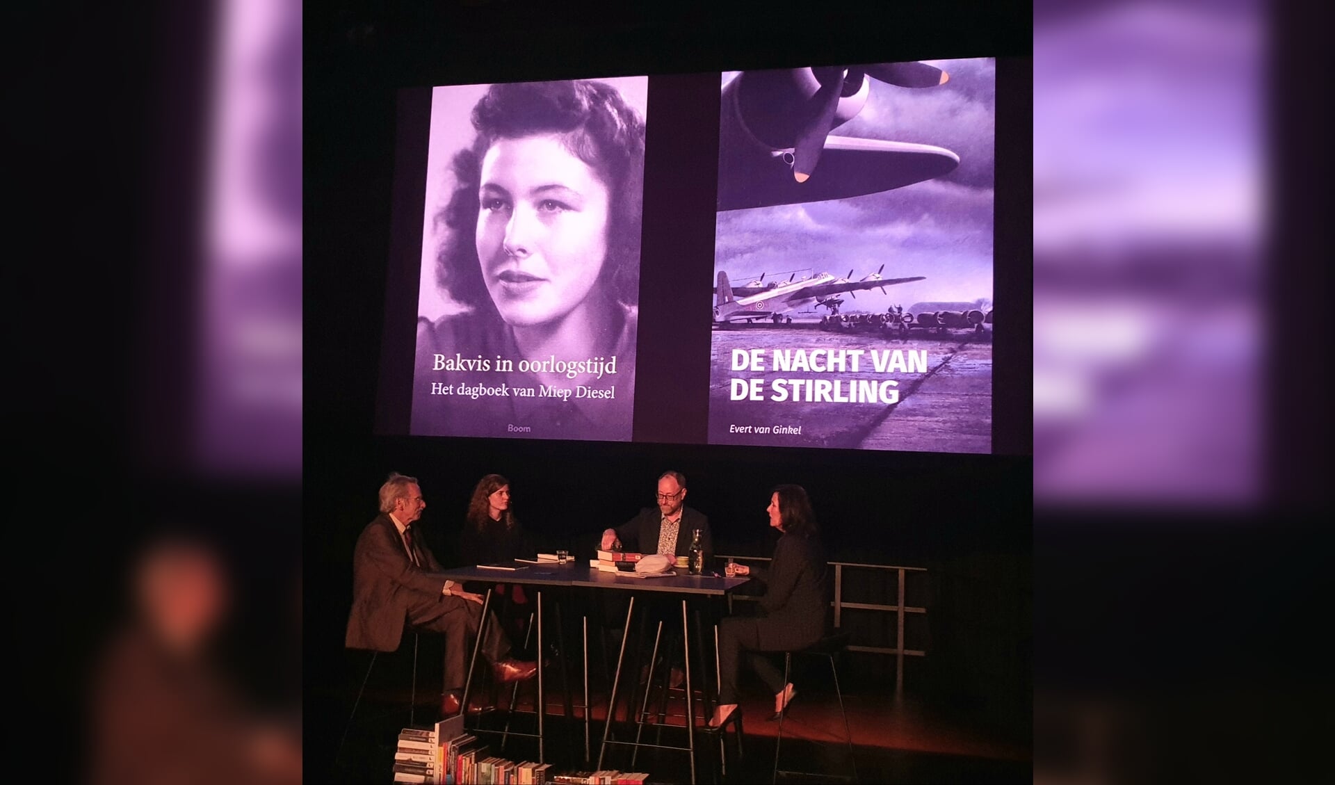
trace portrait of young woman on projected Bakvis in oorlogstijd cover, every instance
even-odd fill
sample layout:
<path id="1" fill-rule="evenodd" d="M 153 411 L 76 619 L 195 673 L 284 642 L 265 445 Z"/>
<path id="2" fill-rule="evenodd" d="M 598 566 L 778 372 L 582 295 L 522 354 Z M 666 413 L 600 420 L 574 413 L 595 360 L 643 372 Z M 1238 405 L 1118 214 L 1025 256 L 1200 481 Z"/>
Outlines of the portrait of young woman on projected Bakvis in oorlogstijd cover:
<path id="1" fill-rule="evenodd" d="M 606 84 L 535 81 L 491 85 L 473 127 L 435 218 L 470 311 L 418 319 L 411 431 L 629 441 L 645 123 Z"/>

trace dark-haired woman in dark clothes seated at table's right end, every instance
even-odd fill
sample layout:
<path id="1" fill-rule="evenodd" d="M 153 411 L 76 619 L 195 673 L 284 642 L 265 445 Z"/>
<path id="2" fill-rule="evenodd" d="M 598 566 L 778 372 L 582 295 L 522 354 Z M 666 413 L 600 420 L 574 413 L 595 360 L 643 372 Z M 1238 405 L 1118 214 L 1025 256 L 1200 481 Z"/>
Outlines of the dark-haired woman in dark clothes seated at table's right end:
<path id="1" fill-rule="evenodd" d="M 770 493 L 769 525 L 782 533 L 774 557 L 764 577 L 745 565 L 738 575 L 757 573 L 765 582 L 760 598 L 760 615 L 734 615 L 718 625 L 718 708 L 709 722 L 722 728 L 741 717 L 737 705 L 737 677 L 745 651 L 756 674 L 774 692 L 774 714 L 780 714 L 797 696 L 784 672 L 762 651 L 792 651 L 820 641 L 828 629 L 828 565 L 821 547 L 816 514 L 800 485 L 781 485 Z"/>

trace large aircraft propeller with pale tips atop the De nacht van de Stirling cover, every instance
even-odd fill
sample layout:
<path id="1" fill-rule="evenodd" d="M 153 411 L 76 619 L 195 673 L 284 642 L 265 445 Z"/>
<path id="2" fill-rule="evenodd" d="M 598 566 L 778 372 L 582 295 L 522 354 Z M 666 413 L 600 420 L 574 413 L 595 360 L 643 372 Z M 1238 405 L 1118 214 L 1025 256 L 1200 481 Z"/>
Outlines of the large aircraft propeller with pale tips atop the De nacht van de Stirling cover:
<path id="1" fill-rule="evenodd" d="M 812 68 L 820 89 L 806 101 L 809 116 L 797 132 L 793 146 L 793 179 L 805 183 L 825 150 L 825 138 L 834 128 L 834 112 L 844 96 L 845 84 L 854 92 L 861 88 L 862 77 L 870 76 L 886 84 L 898 87 L 934 87 L 945 84 L 951 76 L 926 63 L 874 63 L 870 65 L 849 65 Z"/>

